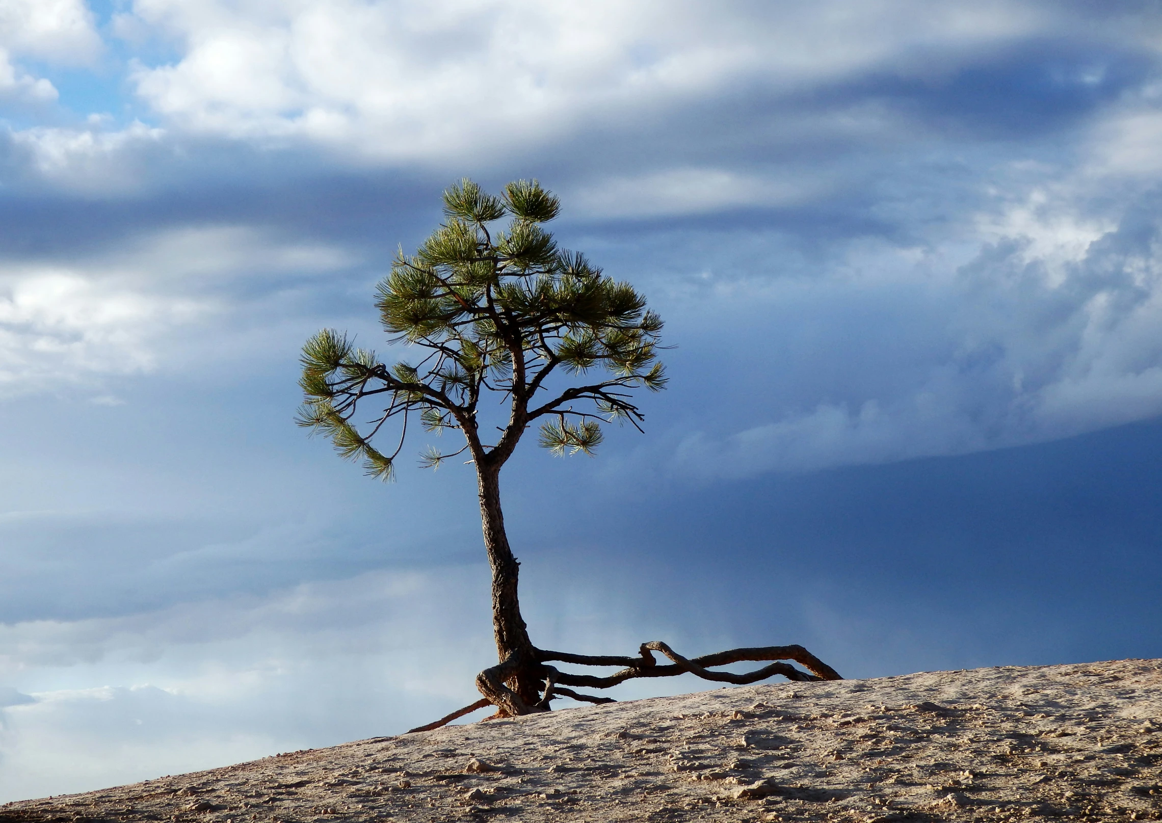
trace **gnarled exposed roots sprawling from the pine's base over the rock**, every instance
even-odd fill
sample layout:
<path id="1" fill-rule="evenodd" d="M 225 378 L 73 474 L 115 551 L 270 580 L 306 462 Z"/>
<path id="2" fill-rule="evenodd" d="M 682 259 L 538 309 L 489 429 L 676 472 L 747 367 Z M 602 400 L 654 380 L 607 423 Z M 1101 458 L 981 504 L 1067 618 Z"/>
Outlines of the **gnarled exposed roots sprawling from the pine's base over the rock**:
<path id="1" fill-rule="evenodd" d="M 612 654 L 573 654 L 569 652 L 533 650 L 536 659 L 526 660 L 523 656 L 514 652 L 495 666 L 486 668 L 476 675 L 476 688 L 483 696 L 472 706 L 466 706 L 458 711 L 453 711 L 446 717 L 442 717 L 435 723 L 422 725 L 413 731 L 431 731 L 442 725 L 451 723 L 457 717 L 475 711 L 485 706 L 495 706 L 494 717 L 517 717 L 538 711 L 548 711 L 550 701 L 554 697 L 572 697 L 587 703 L 614 703 L 612 697 L 598 697 L 589 694 L 580 694 L 567 686 L 587 686 L 589 688 L 610 688 L 626 680 L 634 678 L 669 678 L 677 674 L 690 673 L 711 680 L 713 682 L 736 684 L 739 686 L 758 682 L 782 674 L 788 680 L 795 681 L 818 681 L 818 680 L 842 680 L 834 668 L 825 664 L 803 646 L 756 646 L 753 649 L 730 649 L 715 654 L 703 654 L 693 659 L 684 658 L 661 640 L 643 643 L 639 657 L 618 657 Z M 661 652 L 673 663 L 659 665 L 653 652 Z M 581 666 L 622 666 L 619 672 L 608 677 L 596 677 L 593 674 L 571 674 L 560 672 L 555 667 L 547 665 L 550 660 L 560 663 L 573 663 Z M 745 674 L 733 672 L 715 672 L 711 666 L 726 666 L 732 663 L 744 660 L 761 663 L 774 660 L 762 668 Z M 804 666 L 809 672 L 799 671 L 783 660 L 794 660 Z M 508 684 L 514 682 L 516 674 L 533 675 L 544 684 L 543 696 L 533 704 L 525 702 L 521 695 L 509 688 Z"/>

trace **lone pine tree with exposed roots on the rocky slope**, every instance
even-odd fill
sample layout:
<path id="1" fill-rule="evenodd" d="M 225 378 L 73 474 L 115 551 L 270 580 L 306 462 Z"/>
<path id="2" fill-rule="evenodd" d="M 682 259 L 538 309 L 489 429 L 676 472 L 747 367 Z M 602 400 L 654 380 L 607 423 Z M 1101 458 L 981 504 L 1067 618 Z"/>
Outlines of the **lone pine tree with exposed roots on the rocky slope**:
<path id="1" fill-rule="evenodd" d="M 559 696 L 611 702 L 568 687 L 608 688 L 631 678 L 690 672 L 730 684 L 774 674 L 791 680 L 839 679 L 797 645 L 687 659 L 653 642 L 643 643 L 638 657 L 595 657 L 546 651 L 529 638 L 517 600 L 519 564 L 504 534 L 501 468 L 535 423 L 540 445 L 555 455 L 591 453 L 602 441 L 604 421 L 629 421 L 640 430 L 644 416 L 632 389 L 657 392 L 666 385 L 658 360 L 661 319 L 632 286 L 603 275 L 584 256 L 557 246 L 543 224 L 559 210 L 558 199 L 536 180 L 510 183 L 500 196 L 471 180 L 460 181 L 444 192 L 445 222 L 414 256 L 401 249 L 376 291 L 375 306 L 389 342 L 406 344 L 416 359 L 388 364 L 331 329 L 303 345 L 304 403 L 297 422 L 330 437 L 339 455 L 361 459 L 367 474 L 390 480 L 409 423 L 418 418 L 429 432 L 454 429 L 464 436 L 457 451 L 426 446 L 421 465 L 436 467 L 466 453 L 476 470 L 500 661 L 476 677 L 483 699 L 413 731 L 437 728 L 488 704 L 498 716 L 514 716 L 547 711 Z M 505 217 L 507 226 L 497 227 Z M 498 399 L 507 412 L 495 431 L 478 414 L 485 398 Z M 354 415 L 360 409 L 367 416 L 367 407 L 374 413 L 360 428 Z M 373 445 L 387 434 L 389 421 L 397 423 L 392 427 L 392 448 Z M 655 651 L 670 663 L 659 664 Z M 747 674 L 710 671 L 741 660 L 779 663 Z M 796 660 L 813 674 L 782 660 Z M 575 674 L 551 663 L 621 671 L 605 677 Z"/>

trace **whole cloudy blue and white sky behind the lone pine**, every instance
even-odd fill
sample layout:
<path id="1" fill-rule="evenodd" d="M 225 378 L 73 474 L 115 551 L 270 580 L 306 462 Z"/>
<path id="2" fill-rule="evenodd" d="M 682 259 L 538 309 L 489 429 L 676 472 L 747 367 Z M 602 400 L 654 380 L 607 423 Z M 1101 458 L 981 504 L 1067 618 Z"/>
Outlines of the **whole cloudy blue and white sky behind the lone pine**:
<path id="1" fill-rule="evenodd" d="M 672 346 L 504 470 L 535 643 L 1162 657 L 1160 145 L 1145 1 L 0 0 L 0 802 L 474 700 L 471 467 L 293 423 L 462 177 Z"/>

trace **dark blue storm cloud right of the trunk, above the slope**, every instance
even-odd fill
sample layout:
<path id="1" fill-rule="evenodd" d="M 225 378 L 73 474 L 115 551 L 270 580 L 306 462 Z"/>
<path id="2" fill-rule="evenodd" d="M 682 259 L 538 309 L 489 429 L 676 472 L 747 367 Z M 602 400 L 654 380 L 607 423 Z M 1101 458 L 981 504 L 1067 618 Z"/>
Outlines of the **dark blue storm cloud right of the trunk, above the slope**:
<path id="1" fill-rule="evenodd" d="M 852 677 L 901 665 L 1157 657 L 1160 456 L 1155 421 L 1021 449 L 697 489 L 603 493 L 600 474 L 584 466 L 547 491 L 526 487 L 514 520 L 530 588 L 543 584 L 538 602 L 571 585 L 545 572 L 546 563 L 576 566 L 584 586 L 612 587 L 609 600 L 636 602 L 651 615 L 644 622 L 677 621 L 684 643 L 700 629 L 740 644 L 809 642 Z M 602 517 L 554 506 L 565 488 Z M 546 544 L 560 553 L 543 559 L 537 546 Z M 853 623 L 824 630 L 808 601 Z M 856 650 L 860 621 L 880 634 Z M 877 659 L 905 625 L 916 657 L 903 664 L 891 650 Z"/>

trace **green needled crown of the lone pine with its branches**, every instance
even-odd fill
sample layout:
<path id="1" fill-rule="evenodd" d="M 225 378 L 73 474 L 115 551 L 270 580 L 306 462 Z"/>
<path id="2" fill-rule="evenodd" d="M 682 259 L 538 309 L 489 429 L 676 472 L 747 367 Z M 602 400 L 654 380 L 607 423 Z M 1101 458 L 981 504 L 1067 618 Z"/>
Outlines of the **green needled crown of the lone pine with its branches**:
<path id="1" fill-rule="evenodd" d="M 661 319 L 631 285 L 558 248 L 544 223 L 559 210 L 536 180 L 510 183 L 498 196 L 467 179 L 446 189 L 445 221 L 415 255 L 401 249 L 376 288 L 389 341 L 417 356 L 388 364 L 345 334 L 320 331 L 302 350 L 299 424 L 383 480 L 394 475 L 413 418 L 429 432 L 465 436 L 454 452 L 429 445 L 421 458 L 428 467 L 465 451 L 478 467 L 498 466 L 533 422 L 540 445 L 557 455 L 591 453 L 604 422 L 640 429 L 631 391 L 666 385 Z M 561 387 L 557 375 L 581 379 Z M 508 406 L 493 443 L 479 431 L 486 395 Z M 357 423 L 367 406 L 374 413 Z M 393 445 L 373 445 L 392 420 Z"/>

